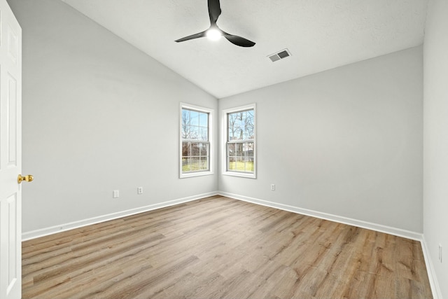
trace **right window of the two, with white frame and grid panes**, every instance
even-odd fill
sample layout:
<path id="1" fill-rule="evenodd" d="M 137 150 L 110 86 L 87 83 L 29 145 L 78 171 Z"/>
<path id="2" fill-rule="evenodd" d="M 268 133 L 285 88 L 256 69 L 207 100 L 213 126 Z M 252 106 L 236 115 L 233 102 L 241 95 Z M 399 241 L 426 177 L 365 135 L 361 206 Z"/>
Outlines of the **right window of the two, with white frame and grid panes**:
<path id="1" fill-rule="evenodd" d="M 224 174 L 256 178 L 255 104 L 223 111 Z"/>

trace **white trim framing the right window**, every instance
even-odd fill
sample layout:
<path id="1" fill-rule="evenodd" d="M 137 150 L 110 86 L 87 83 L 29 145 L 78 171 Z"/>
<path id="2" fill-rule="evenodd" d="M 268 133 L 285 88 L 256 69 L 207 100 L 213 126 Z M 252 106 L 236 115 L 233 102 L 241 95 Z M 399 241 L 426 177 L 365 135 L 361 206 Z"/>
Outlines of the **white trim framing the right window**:
<path id="1" fill-rule="evenodd" d="M 255 116 L 253 118 L 253 122 L 255 125 L 255 136 L 253 137 L 253 173 L 247 173 L 247 172 L 232 172 L 228 171 L 227 169 L 227 143 L 228 143 L 228 113 L 235 113 L 239 111 L 246 111 L 253 109 L 253 112 L 255 113 Z M 223 175 L 226 176 L 239 176 L 244 177 L 248 179 L 256 179 L 257 178 L 257 109 L 255 103 L 248 104 L 244 106 L 238 106 L 234 108 L 229 108 L 223 110 L 222 114 L 222 129 L 223 134 L 221 136 L 222 139 L 222 151 L 221 151 L 221 169 L 223 169 Z"/>

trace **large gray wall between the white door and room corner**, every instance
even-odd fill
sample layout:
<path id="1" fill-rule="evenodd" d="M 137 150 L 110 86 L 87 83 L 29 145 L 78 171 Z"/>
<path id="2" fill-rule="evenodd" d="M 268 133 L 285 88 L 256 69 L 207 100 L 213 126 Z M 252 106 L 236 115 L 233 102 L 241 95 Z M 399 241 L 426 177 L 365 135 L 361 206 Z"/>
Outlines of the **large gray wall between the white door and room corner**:
<path id="1" fill-rule="evenodd" d="M 9 4 L 23 31 L 23 172 L 35 177 L 23 232 L 218 189 L 216 174 L 179 179 L 179 103 L 216 110 L 216 98 L 62 1 Z"/>

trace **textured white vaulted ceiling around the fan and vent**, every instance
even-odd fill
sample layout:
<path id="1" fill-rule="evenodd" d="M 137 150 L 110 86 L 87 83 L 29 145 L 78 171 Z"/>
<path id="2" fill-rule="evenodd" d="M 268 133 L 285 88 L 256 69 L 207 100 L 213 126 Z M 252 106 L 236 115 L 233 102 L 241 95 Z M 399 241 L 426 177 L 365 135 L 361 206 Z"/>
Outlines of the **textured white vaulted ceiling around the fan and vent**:
<path id="1" fill-rule="evenodd" d="M 217 98 L 423 43 L 427 0 L 221 0 L 218 26 L 255 41 L 174 40 L 209 27 L 207 0 L 62 0 Z M 292 56 L 271 62 L 288 48 Z"/>

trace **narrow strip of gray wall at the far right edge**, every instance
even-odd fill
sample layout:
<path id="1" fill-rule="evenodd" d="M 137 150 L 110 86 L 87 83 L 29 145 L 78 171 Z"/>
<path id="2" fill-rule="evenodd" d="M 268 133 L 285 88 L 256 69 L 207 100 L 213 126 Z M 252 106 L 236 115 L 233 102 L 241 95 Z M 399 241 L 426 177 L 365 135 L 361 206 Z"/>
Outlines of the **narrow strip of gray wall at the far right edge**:
<path id="1" fill-rule="evenodd" d="M 448 298 L 448 1 L 430 0 L 424 43 L 423 232 Z M 444 260 L 438 260 L 439 244 Z"/>

